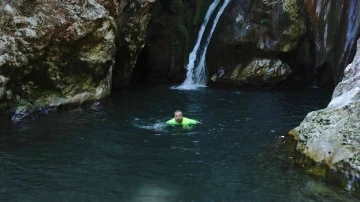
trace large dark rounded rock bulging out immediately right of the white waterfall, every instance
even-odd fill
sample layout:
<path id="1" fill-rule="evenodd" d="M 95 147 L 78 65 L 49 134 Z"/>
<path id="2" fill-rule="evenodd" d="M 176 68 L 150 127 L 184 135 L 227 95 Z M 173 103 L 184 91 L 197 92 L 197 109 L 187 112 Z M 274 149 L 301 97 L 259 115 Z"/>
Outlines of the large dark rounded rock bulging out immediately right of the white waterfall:
<path id="1" fill-rule="evenodd" d="M 219 68 L 236 71 L 239 65 L 251 63 L 257 58 L 277 61 L 280 54 L 297 49 L 306 31 L 306 12 L 302 1 L 232 1 L 209 47 L 209 73 L 213 75 Z"/>

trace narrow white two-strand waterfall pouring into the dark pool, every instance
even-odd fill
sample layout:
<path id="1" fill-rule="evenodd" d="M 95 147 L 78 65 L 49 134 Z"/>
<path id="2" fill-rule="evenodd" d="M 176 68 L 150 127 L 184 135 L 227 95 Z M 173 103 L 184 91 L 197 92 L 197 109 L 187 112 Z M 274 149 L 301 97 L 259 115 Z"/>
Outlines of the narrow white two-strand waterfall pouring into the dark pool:
<path id="1" fill-rule="evenodd" d="M 207 36 L 207 39 L 205 41 L 205 44 L 203 46 L 203 50 L 201 50 L 201 41 L 204 36 L 204 32 L 206 29 L 206 26 L 215 11 L 216 7 L 219 5 L 220 0 L 214 0 L 214 2 L 210 5 L 206 15 L 204 22 L 201 25 L 201 28 L 199 30 L 198 38 L 196 41 L 196 44 L 194 46 L 193 51 L 189 55 L 189 63 L 187 65 L 187 73 L 186 73 L 186 79 L 183 84 L 181 84 L 178 89 L 196 89 L 196 87 L 205 86 L 206 84 L 206 51 L 209 46 L 211 37 L 215 31 L 216 25 L 220 19 L 220 16 L 224 12 L 226 6 L 229 4 L 230 0 L 224 0 L 224 3 L 220 7 L 219 11 L 216 14 L 216 17 L 214 19 L 214 23 L 210 29 L 209 35 Z M 200 55 L 200 56 L 199 56 Z M 198 57 L 199 56 L 199 57 Z M 199 61 L 196 65 L 196 61 Z"/>

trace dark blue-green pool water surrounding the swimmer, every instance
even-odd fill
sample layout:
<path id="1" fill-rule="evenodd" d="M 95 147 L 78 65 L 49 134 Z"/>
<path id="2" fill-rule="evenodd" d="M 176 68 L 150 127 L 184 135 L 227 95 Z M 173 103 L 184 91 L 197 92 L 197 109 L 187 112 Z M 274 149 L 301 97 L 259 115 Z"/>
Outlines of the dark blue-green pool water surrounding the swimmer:
<path id="1" fill-rule="evenodd" d="M 356 201 L 279 147 L 330 96 L 157 86 L 1 123 L 0 201 Z M 204 124 L 164 128 L 176 109 Z"/>

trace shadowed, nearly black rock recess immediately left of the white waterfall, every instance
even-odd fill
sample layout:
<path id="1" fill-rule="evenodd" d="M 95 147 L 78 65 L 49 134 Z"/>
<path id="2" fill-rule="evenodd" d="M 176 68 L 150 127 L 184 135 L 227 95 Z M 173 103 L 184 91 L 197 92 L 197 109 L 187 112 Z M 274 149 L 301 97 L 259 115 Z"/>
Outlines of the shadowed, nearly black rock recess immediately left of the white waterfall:
<path id="1" fill-rule="evenodd" d="M 158 0 L 146 35 L 146 46 L 136 66 L 140 81 L 179 83 L 198 28 L 213 0 Z"/>

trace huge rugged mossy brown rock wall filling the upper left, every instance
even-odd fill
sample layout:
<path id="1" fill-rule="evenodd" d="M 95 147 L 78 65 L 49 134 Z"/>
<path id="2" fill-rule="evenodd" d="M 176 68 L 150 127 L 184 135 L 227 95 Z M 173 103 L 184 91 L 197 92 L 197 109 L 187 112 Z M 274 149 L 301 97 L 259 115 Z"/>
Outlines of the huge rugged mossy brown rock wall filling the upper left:
<path id="1" fill-rule="evenodd" d="M 109 95 L 116 45 L 114 78 L 128 83 L 154 1 L 1 1 L 0 111 L 21 119 Z"/>

